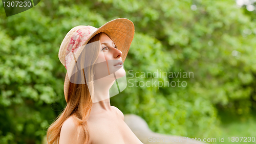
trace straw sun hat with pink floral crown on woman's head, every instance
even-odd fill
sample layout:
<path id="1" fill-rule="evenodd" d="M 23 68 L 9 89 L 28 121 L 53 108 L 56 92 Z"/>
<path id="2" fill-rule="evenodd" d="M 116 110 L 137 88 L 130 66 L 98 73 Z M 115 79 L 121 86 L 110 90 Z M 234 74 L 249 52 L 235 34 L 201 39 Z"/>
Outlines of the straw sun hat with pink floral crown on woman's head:
<path id="1" fill-rule="evenodd" d="M 105 23 L 99 29 L 92 26 L 77 26 L 72 28 L 63 39 L 59 48 L 59 60 L 68 70 L 64 82 L 64 94 L 68 102 L 69 71 L 74 66 L 74 58 L 78 58 L 84 45 L 98 33 L 105 33 L 117 45 L 118 50 L 122 52 L 122 61 L 130 49 L 134 37 L 134 24 L 126 18 L 117 18 Z M 70 73 L 69 73 L 70 74 Z"/>

